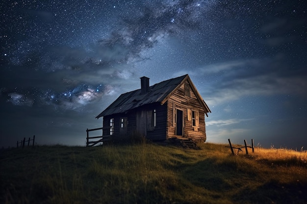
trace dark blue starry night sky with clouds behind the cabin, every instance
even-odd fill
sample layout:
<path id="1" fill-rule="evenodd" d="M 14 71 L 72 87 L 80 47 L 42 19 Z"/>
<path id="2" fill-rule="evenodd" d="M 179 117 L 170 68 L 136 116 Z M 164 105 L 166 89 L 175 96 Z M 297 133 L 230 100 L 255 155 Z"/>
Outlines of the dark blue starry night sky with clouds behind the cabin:
<path id="1" fill-rule="evenodd" d="M 307 149 L 304 0 L 5 0 L 0 10 L 0 147 L 33 135 L 83 146 L 140 77 L 189 74 L 212 112 L 208 142 Z"/>

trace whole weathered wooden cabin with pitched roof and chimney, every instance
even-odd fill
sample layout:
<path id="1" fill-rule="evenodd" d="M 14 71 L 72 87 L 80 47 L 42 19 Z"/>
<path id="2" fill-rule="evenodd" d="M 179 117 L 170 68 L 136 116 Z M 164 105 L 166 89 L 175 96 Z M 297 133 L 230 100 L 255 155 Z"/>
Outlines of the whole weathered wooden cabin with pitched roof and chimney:
<path id="1" fill-rule="evenodd" d="M 153 86 L 149 78 L 140 79 L 141 89 L 121 94 L 96 117 L 103 117 L 102 136 L 206 140 L 205 115 L 211 111 L 188 74 Z"/>

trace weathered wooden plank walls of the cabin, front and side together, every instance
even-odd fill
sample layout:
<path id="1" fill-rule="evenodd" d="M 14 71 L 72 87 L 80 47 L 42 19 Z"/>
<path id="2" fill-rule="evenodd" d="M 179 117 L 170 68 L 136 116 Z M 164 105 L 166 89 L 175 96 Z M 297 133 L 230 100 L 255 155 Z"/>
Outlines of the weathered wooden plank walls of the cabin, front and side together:
<path id="1" fill-rule="evenodd" d="M 182 111 L 182 131 L 176 132 L 175 114 Z M 153 126 L 153 110 L 155 110 L 155 126 Z M 188 111 L 189 110 L 189 111 Z M 197 125 L 192 125 L 191 113 L 197 112 Z M 189 117 L 188 117 L 189 114 Z M 127 130 L 121 129 L 121 118 L 127 118 Z M 103 127 L 110 126 L 113 119 L 113 134 L 110 128 L 103 130 L 102 136 L 128 137 L 133 134 L 145 136 L 151 140 L 163 140 L 170 137 L 183 136 L 193 140 L 206 140 L 205 110 L 186 80 L 168 100 L 161 105 L 160 102 L 146 104 L 126 113 L 115 113 L 103 116 Z M 180 118 L 181 119 L 181 118 Z M 176 135 L 179 134 L 179 135 Z"/>

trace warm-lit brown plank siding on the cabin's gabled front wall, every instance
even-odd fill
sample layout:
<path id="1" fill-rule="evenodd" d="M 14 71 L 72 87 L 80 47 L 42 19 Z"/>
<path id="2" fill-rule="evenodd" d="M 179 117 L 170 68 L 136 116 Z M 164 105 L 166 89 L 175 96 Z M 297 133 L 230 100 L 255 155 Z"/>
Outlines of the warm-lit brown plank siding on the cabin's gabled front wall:
<path id="1" fill-rule="evenodd" d="M 187 81 L 185 83 L 188 84 Z M 167 137 L 176 137 L 174 109 L 178 108 L 183 110 L 183 136 L 193 140 L 205 141 L 205 111 L 192 89 L 190 89 L 190 97 L 185 96 L 185 88 L 186 85 L 182 84 L 167 101 Z M 199 127 L 196 130 L 192 127 L 192 120 L 188 120 L 188 109 L 198 111 L 199 113 Z"/>

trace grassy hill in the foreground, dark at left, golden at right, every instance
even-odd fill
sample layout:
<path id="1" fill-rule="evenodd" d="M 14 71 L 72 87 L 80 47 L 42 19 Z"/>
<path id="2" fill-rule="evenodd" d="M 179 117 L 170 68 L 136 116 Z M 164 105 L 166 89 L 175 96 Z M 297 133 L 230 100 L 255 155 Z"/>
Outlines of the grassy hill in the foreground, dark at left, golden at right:
<path id="1" fill-rule="evenodd" d="M 307 153 L 223 144 L 36 146 L 0 152 L 4 204 L 303 204 Z"/>

